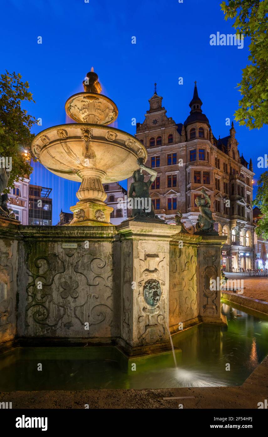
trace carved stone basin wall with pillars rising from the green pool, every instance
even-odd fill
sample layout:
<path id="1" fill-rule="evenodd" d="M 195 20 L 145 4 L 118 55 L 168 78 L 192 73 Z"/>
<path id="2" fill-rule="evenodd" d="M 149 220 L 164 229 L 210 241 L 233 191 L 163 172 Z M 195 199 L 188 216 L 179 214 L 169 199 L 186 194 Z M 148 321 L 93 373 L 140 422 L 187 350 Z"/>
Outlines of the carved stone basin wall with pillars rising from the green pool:
<path id="1" fill-rule="evenodd" d="M 222 323 L 221 293 L 207 284 L 220 275 L 224 239 L 178 230 L 135 221 L 0 226 L 0 343 L 80 339 L 140 354 L 169 347 L 167 325 Z"/>

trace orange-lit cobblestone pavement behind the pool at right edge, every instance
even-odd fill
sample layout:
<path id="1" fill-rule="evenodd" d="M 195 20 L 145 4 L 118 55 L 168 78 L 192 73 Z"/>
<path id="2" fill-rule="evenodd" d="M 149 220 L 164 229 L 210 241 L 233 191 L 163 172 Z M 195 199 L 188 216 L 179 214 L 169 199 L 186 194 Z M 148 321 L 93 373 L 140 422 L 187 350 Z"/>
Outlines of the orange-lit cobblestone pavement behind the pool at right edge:
<path id="1" fill-rule="evenodd" d="M 259 299 L 268 302 L 268 277 L 243 277 L 239 273 L 226 272 L 228 279 L 243 279 L 244 280 L 244 293 L 243 296 L 248 298 Z M 227 281 L 228 286 L 228 281 Z"/>

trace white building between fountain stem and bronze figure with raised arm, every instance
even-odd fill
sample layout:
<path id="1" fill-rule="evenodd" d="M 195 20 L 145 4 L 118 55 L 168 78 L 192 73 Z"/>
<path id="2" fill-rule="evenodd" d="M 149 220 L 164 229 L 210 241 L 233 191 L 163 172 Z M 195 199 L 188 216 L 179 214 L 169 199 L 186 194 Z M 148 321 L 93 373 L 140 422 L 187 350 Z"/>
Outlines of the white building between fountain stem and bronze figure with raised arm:
<path id="1" fill-rule="evenodd" d="M 128 216 L 127 211 L 127 192 L 125 188 L 121 187 L 118 182 L 111 182 L 110 184 L 104 184 L 104 191 L 107 194 L 105 203 L 114 208 L 110 215 L 110 222 L 113 225 L 119 225 L 123 220 L 126 220 Z M 121 201 L 120 201 L 121 199 Z M 122 202 L 124 199 L 124 202 Z M 123 204 L 123 205 L 122 205 Z"/>

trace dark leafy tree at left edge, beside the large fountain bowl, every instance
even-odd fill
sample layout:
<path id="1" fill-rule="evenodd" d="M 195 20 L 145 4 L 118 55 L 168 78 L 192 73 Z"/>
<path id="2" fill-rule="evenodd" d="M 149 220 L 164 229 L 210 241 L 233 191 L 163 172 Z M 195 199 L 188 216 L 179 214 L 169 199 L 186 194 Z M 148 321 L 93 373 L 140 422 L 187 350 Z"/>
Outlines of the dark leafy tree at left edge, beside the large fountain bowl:
<path id="1" fill-rule="evenodd" d="M 0 157 L 12 158 L 7 188 L 32 171 L 24 149 L 31 145 L 34 134 L 30 130 L 37 120 L 21 108 L 22 101 L 34 102 L 28 89 L 29 83 L 22 82 L 20 74 L 6 71 L 0 75 Z"/>

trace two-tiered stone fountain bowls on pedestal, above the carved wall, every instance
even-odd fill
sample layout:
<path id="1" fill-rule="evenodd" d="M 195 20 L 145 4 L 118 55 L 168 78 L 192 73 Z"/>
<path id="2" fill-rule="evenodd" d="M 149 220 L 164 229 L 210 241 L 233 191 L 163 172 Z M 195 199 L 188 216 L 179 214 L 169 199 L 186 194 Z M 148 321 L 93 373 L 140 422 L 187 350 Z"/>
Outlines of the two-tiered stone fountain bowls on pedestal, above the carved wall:
<path id="1" fill-rule="evenodd" d="M 105 204 L 103 185 L 126 179 L 147 151 L 134 136 L 110 125 L 118 116 L 115 103 L 100 94 L 98 75 L 87 73 L 84 92 L 69 97 L 65 111 L 75 123 L 53 126 L 36 135 L 32 152 L 47 170 L 81 182 L 79 201 L 71 206 L 70 225 L 111 225 L 113 208 Z"/>

